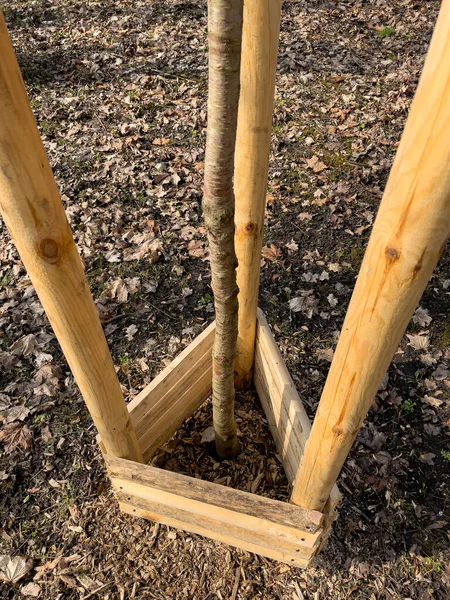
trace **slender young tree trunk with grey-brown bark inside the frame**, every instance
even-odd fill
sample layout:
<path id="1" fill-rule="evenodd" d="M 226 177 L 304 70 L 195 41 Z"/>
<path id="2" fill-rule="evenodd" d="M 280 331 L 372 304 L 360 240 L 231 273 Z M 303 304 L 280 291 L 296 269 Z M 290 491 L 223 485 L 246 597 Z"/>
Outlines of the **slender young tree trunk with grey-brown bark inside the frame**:
<path id="1" fill-rule="evenodd" d="M 209 0 L 209 95 L 203 210 L 216 310 L 213 422 L 219 456 L 236 455 L 234 359 L 238 325 L 233 168 L 239 103 L 242 0 Z"/>

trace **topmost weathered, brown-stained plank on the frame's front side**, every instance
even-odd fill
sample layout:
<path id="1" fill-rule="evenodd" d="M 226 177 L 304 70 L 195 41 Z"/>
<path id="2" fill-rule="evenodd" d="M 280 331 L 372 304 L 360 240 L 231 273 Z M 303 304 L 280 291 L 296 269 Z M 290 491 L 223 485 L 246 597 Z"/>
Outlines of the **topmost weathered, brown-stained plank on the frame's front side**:
<path id="1" fill-rule="evenodd" d="M 232 509 L 248 517 L 258 517 L 284 527 L 315 534 L 320 530 L 323 514 L 305 511 L 278 500 L 233 490 L 209 481 L 186 477 L 150 465 L 139 465 L 132 461 L 105 456 L 108 472 L 113 480 L 128 480 L 161 492 L 176 493 L 185 499 L 201 502 L 205 506 Z"/>

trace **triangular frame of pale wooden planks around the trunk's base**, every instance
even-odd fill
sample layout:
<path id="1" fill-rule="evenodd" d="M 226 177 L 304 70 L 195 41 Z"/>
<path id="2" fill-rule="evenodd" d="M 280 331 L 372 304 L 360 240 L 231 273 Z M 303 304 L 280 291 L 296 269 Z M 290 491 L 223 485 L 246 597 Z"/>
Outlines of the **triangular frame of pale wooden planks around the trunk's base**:
<path id="1" fill-rule="evenodd" d="M 211 395 L 215 324 L 128 405 L 147 462 Z M 267 321 L 258 310 L 254 382 L 284 470 L 297 474 L 310 422 Z M 306 567 L 328 536 L 339 500 L 324 513 L 105 454 L 122 511 Z"/>

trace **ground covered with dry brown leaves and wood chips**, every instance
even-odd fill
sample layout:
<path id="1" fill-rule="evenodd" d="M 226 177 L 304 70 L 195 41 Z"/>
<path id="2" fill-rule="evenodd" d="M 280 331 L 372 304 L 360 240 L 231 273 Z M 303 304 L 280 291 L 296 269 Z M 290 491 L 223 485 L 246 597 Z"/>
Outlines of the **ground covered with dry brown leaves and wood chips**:
<path id="1" fill-rule="evenodd" d="M 283 5 L 260 303 L 312 415 L 438 2 Z M 3 7 L 132 397 L 213 318 L 200 211 L 205 2 Z M 0 553 L 33 561 L 0 583 L 2 598 L 449 597 L 448 249 L 343 470 L 330 542 L 304 572 L 119 514 L 89 415 L 0 235 Z M 207 409 L 157 460 L 287 497 L 252 396 L 238 417 L 248 460 L 217 465 L 201 442 Z"/>

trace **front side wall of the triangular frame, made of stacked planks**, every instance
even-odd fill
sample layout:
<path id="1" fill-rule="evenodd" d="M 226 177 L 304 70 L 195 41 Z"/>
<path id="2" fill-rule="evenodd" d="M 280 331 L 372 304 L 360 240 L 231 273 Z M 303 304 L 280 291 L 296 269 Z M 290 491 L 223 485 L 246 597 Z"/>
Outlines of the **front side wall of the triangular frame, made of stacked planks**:
<path id="1" fill-rule="evenodd" d="M 105 460 L 130 514 L 300 566 L 319 547 L 321 513 L 132 461 Z"/>

